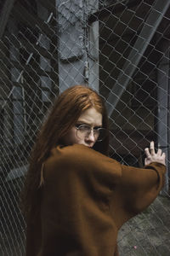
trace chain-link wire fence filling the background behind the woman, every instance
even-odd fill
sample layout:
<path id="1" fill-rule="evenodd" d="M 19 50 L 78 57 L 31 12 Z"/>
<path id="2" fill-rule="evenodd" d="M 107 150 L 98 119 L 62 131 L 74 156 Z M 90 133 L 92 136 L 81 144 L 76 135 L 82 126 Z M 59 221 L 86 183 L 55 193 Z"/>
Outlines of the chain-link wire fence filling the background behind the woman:
<path id="1" fill-rule="evenodd" d="M 156 201 L 123 225 L 120 255 L 170 255 L 170 1 L 0 1 L 0 255 L 24 255 L 19 198 L 37 131 L 59 92 L 104 97 L 110 154 L 142 166 L 151 140 L 167 154 Z"/>

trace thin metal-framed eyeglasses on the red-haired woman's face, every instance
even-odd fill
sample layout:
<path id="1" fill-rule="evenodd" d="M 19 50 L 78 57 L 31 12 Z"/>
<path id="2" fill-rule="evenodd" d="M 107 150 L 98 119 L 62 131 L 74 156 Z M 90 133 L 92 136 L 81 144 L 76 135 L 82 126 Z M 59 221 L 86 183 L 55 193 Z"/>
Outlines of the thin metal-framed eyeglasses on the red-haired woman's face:
<path id="1" fill-rule="evenodd" d="M 88 137 L 91 131 L 93 131 L 96 142 L 101 142 L 104 140 L 107 134 L 107 130 L 101 127 L 91 127 L 90 125 L 82 124 L 75 125 L 75 127 L 77 129 L 77 137 L 81 139 L 84 137 Z"/>

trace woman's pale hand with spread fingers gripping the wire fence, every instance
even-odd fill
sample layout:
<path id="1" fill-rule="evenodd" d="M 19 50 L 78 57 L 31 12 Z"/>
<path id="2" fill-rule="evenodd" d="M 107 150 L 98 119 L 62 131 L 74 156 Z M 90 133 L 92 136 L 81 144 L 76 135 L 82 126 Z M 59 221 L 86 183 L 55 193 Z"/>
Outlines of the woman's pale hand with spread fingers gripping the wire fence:
<path id="1" fill-rule="evenodd" d="M 161 152 L 161 149 L 158 149 L 157 152 L 155 151 L 155 145 L 154 142 L 150 143 L 150 148 L 144 148 L 144 152 L 146 155 L 146 158 L 144 159 L 144 165 L 150 165 L 152 162 L 157 162 L 162 165 L 165 164 L 165 153 Z"/>

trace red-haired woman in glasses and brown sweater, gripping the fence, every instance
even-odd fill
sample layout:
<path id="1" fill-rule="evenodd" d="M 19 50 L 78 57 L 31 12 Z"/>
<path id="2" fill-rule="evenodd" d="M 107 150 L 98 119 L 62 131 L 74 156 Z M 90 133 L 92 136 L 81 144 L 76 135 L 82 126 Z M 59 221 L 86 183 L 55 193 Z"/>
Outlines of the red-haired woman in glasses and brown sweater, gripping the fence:
<path id="1" fill-rule="evenodd" d="M 118 230 L 156 199 L 165 154 L 145 149 L 143 169 L 107 156 L 108 118 L 88 87 L 65 90 L 31 154 L 23 197 L 26 256 L 116 256 Z"/>

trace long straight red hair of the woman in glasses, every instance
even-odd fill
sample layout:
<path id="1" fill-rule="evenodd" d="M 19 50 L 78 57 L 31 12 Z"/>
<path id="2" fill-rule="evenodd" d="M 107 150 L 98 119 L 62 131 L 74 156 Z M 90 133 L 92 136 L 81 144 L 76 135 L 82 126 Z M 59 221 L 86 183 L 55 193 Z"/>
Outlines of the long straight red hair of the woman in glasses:
<path id="1" fill-rule="evenodd" d="M 84 85 L 75 85 L 65 90 L 54 102 L 48 119 L 42 125 L 37 142 L 31 152 L 30 166 L 22 195 L 23 212 L 28 216 L 40 201 L 40 178 L 42 163 L 48 158 L 52 148 L 59 144 L 61 137 L 77 123 L 81 113 L 88 108 L 96 108 L 102 114 L 103 127 L 108 131 L 108 117 L 105 104 L 97 92 Z M 94 149 L 108 154 L 109 131 L 102 142 L 94 144 Z"/>

